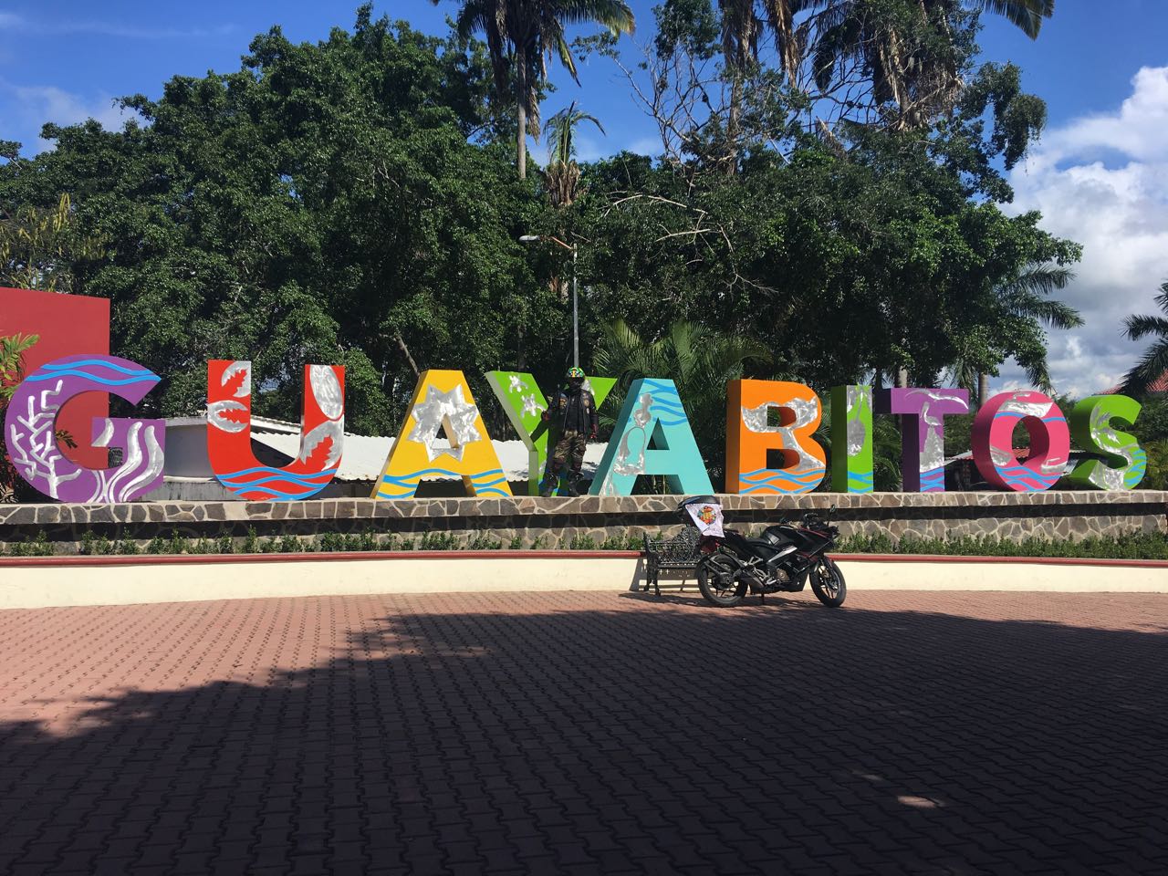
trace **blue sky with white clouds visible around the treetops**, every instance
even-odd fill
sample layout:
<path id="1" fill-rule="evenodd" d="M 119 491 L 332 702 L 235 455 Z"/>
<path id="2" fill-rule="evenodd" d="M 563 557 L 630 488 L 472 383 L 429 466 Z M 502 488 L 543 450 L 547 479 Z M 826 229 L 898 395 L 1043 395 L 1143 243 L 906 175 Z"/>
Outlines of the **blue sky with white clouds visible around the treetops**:
<path id="1" fill-rule="evenodd" d="M 653 5 L 632 2 L 639 41 L 652 39 Z M 1168 2 L 1105 6 L 1061 0 L 1036 42 L 987 15 L 981 40 L 987 60 L 1022 67 L 1026 88 L 1050 111 L 1043 142 L 1014 174 L 1017 208 L 1042 209 L 1047 228 L 1087 246 L 1079 280 L 1064 297 L 1083 308 L 1089 326 L 1051 339 L 1064 391 L 1100 389 L 1128 367 L 1135 348 L 1118 338 L 1118 321 L 1148 310 L 1155 287 L 1168 279 Z M 0 33 L 8 37 L 0 47 L 0 138 L 25 142 L 32 154 L 46 146 L 37 138 L 44 121 L 92 116 L 117 126 L 117 96 L 158 96 L 171 76 L 238 69 L 251 37 L 272 25 L 292 40 L 321 40 L 332 27 L 350 27 L 355 8 L 223 0 L 0 4 Z M 375 5 L 376 14 L 431 33 L 443 32 L 454 9 L 450 0 Z M 580 78 L 577 88 L 554 69 L 558 91 L 544 117 L 577 99 L 602 119 L 607 137 L 586 132 L 582 157 L 653 150 L 655 130 L 610 62 L 582 67 Z M 544 147 L 533 148 L 542 160 Z M 1007 371 L 1000 385 L 1017 377 Z"/>

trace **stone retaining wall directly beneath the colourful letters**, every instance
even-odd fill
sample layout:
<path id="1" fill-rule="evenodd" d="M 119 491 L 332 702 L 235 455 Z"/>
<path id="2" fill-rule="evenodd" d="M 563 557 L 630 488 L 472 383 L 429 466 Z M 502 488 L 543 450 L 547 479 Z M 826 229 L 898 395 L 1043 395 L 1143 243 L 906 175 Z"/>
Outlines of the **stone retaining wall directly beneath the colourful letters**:
<path id="1" fill-rule="evenodd" d="M 843 535 L 887 533 L 945 537 L 996 535 L 1001 538 L 1078 538 L 1131 531 L 1168 531 L 1168 493 L 811 493 L 793 496 L 718 498 L 730 526 L 753 529 L 805 510 L 837 506 Z M 75 551 L 86 531 L 145 544 L 157 535 L 237 542 L 249 531 L 260 538 L 293 535 L 311 540 L 326 533 L 394 533 L 419 536 L 451 533 L 468 541 L 489 534 L 507 547 L 568 547 L 577 535 L 599 545 L 610 536 L 677 531 L 677 496 L 580 496 L 579 499 L 322 499 L 301 502 L 133 502 L 127 505 L 0 506 L 0 544 L 40 533 L 57 552 Z"/>

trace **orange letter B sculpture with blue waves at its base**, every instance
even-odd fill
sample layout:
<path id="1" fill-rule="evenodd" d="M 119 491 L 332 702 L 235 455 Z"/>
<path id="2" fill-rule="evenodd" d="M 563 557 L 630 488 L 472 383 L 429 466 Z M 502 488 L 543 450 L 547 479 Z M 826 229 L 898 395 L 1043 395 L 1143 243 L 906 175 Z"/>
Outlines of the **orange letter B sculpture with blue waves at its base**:
<path id="1" fill-rule="evenodd" d="M 769 411 L 779 423 L 771 425 Z M 819 397 L 811 387 L 784 381 L 731 381 L 726 387 L 726 492 L 809 493 L 823 480 L 827 456 L 812 436 Z M 770 468 L 767 451 L 783 465 Z"/>

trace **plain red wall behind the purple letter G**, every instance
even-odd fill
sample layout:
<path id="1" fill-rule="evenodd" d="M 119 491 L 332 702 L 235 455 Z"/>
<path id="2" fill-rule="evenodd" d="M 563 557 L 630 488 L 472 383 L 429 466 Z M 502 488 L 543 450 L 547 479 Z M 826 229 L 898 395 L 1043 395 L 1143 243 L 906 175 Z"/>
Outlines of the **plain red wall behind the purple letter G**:
<path id="1" fill-rule="evenodd" d="M 0 335 L 18 332 L 41 336 L 25 354 L 25 374 L 62 356 L 109 355 L 110 301 L 0 287 Z M 110 399 L 104 392 L 85 392 L 68 402 L 57 417 L 57 429 L 72 436 L 77 450 L 62 447 L 65 456 L 90 468 L 107 466 L 109 451 L 93 447 L 90 436 L 93 417 L 107 417 L 109 413 Z"/>

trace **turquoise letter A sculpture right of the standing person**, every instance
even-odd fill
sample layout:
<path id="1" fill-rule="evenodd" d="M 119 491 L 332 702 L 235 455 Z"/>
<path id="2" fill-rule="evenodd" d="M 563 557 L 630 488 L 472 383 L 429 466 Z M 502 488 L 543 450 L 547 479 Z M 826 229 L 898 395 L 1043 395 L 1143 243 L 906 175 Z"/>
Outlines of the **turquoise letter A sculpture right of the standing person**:
<path id="1" fill-rule="evenodd" d="M 674 493 L 714 492 L 673 381 L 633 381 L 589 492 L 630 495 L 640 474 L 665 475 Z"/>

